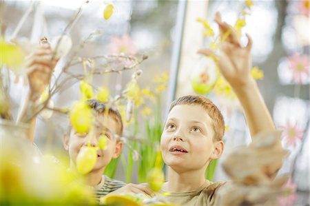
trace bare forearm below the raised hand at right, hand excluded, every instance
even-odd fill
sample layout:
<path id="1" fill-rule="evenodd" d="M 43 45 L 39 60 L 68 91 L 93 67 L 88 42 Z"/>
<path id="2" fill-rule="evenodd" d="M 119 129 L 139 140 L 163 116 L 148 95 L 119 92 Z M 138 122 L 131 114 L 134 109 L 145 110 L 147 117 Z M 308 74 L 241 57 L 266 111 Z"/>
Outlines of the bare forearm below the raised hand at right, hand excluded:
<path id="1" fill-rule="evenodd" d="M 254 79 L 250 79 L 247 85 L 235 86 L 233 89 L 245 112 L 245 118 L 252 137 L 260 132 L 276 130 Z"/>

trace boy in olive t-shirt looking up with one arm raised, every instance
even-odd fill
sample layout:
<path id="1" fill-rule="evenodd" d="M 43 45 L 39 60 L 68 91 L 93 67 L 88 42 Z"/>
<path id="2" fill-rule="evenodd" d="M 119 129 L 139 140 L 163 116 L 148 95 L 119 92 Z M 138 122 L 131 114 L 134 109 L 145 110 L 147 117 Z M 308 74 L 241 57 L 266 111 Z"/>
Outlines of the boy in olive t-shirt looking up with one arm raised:
<path id="1" fill-rule="evenodd" d="M 257 134 L 274 132 L 271 116 L 260 95 L 256 81 L 251 77 L 251 45 L 240 45 L 234 28 L 221 20 L 216 13 L 216 23 L 220 28 L 220 37 L 227 38 L 221 44 L 220 55 L 208 49 L 198 53 L 216 56 L 221 74 L 233 88 L 245 112 L 252 138 Z M 203 96 L 183 96 L 170 107 L 163 134 L 161 152 L 167 165 L 167 182 L 159 200 L 177 203 L 183 206 L 218 205 L 216 192 L 223 182 L 211 183 L 205 179 L 205 171 L 211 161 L 223 153 L 224 120 L 218 108 Z M 278 140 L 276 147 L 280 147 Z M 267 176 L 274 177 L 281 165 L 265 168 Z M 127 192 L 134 192 L 131 187 L 123 187 Z"/>

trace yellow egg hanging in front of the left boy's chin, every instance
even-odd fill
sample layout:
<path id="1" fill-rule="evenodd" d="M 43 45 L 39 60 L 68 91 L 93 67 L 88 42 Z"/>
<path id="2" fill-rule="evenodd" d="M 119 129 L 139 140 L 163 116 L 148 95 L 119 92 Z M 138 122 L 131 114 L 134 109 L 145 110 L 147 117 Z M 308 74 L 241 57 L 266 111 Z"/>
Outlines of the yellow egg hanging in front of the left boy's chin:
<path id="1" fill-rule="evenodd" d="M 97 151 L 95 147 L 81 147 L 76 157 L 76 169 L 81 174 L 87 174 L 92 171 L 97 161 Z"/>

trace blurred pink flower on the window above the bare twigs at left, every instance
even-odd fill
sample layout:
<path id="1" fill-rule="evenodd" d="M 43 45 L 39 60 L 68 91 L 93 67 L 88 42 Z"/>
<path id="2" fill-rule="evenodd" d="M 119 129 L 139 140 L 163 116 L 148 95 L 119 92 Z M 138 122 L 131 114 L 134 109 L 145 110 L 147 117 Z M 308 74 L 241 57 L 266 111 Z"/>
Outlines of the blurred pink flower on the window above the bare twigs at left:
<path id="1" fill-rule="evenodd" d="M 136 54 L 136 45 L 128 34 L 123 35 L 123 37 L 112 37 L 111 41 L 109 45 L 110 54 Z"/>

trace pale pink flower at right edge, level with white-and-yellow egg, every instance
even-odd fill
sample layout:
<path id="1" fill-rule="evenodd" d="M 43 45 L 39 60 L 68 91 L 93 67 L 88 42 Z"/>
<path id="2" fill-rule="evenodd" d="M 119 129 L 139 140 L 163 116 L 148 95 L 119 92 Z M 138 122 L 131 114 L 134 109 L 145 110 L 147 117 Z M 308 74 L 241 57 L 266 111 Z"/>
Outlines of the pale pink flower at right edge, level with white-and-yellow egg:
<path id="1" fill-rule="evenodd" d="M 289 69 L 293 72 L 291 81 L 302 84 L 302 76 L 309 77 L 309 56 L 294 54 L 287 58 Z"/>

